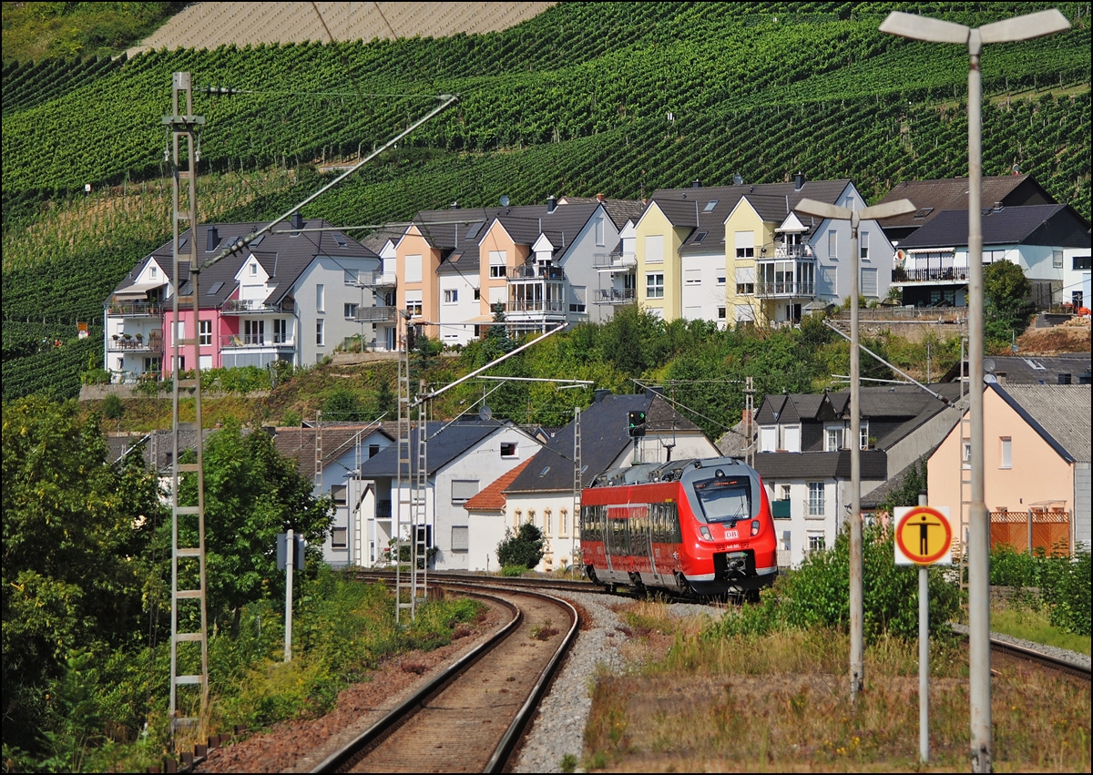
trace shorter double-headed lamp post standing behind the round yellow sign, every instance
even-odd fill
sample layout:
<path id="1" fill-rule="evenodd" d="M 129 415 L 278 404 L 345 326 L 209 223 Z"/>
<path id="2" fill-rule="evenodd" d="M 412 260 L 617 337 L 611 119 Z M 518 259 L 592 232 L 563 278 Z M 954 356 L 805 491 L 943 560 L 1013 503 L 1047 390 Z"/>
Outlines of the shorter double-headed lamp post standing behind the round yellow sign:
<path id="1" fill-rule="evenodd" d="M 858 348 L 858 224 L 862 220 L 915 212 L 907 199 L 863 210 L 802 199 L 794 210 L 806 215 L 850 222 L 850 702 L 857 704 L 866 680 L 865 610 L 861 592 L 861 351 Z"/>

